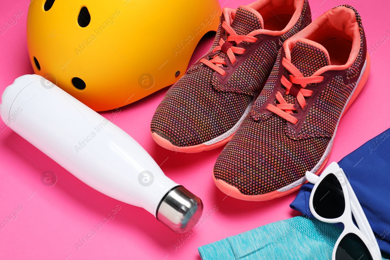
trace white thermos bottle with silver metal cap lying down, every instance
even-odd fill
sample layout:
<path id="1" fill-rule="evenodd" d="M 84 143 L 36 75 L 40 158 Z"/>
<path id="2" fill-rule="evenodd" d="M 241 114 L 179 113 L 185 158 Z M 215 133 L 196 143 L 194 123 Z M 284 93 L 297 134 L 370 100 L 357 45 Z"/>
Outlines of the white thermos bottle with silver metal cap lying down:
<path id="1" fill-rule="evenodd" d="M 4 90 L 0 115 L 97 191 L 143 207 L 177 233 L 199 221 L 203 204 L 197 196 L 165 176 L 126 132 L 45 78 L 17 78 Z"/>

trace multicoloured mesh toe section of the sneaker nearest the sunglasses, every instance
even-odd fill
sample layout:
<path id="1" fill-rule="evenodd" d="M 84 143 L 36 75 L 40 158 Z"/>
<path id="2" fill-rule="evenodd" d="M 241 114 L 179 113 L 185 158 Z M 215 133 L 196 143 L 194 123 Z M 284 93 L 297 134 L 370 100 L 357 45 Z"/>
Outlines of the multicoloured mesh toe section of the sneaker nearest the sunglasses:
<path id="1" fill-rule="evenodd" d="M 259 195 L 303 177 L 321 158 L 330 138 L 293 140 L 286 120 L 272 115 L 258 122 L 246 117 L 218 156 L 214 177 L 242 194 Z"/>

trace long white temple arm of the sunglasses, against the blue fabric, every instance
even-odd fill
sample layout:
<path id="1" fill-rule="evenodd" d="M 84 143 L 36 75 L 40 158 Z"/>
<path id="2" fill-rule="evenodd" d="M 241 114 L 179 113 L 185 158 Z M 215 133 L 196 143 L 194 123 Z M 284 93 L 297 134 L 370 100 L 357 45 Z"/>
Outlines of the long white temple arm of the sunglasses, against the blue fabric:
<path id="1" fill-rule="evenodd" d="M 347 182 L 348 187 L 348 193 L 349 193 L 349 199 L 351 202 L 351 211 L 353 216 L 355 217 L 356 223 L 362 231 L 363 235 L 367 237 L 367 239 L 370 241 L 370 244 L 372 247 L 375 248 L 376 253 L 381 256 L 381 252 L 379 250 L 378 242 L 376 241 L 375 235 L 372 232 L 371 226 L 367 220 L 367 217 L 365 216 L 362 206 L 360 205 L 358 198 L 356 197 L 355 192 L 353 191 L 351 184 Z"/>

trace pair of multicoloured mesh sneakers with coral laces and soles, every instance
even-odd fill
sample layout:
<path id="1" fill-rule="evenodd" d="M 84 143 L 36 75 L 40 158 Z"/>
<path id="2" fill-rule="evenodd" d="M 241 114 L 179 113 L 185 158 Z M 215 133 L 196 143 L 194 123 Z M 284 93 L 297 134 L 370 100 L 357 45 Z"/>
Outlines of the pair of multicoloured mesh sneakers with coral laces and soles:
<path id="1" fill-rule="evenodd" d="M 223 8 L 211 49 L 175 83 L 151 122 L 153 139 L 178 152 L 227 145 L 216 186 L 269 200 L 319 174 L 340 118 L 367 80 L 358 12 L 335 7 L 311 22 L 307 0 Z"/>

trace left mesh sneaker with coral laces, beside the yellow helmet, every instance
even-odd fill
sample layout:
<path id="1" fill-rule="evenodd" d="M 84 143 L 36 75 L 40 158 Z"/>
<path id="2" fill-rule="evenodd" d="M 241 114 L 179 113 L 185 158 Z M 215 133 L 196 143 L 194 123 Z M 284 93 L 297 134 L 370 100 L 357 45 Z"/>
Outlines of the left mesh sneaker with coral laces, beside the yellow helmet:
<path id="1" fill-rule="evenodd" d="M 223 8 L 213 46 L 167 92 L 151 122 L 169 150 L 227 143 L 271 72 L 283 42 L 311 22 L 307 0 L 260 0 Z"/>

